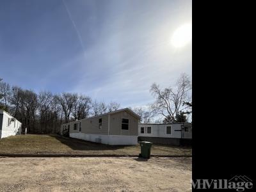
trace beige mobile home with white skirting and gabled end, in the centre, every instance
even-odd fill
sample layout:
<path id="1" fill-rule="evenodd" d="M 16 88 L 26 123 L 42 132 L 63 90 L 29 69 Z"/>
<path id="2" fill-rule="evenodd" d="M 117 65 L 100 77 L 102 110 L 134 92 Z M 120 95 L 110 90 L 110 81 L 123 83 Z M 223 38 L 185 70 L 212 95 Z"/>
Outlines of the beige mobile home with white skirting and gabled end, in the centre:
<path id="1" fill-rule="evenodd" d="M 71 138 L 108 145 L 136 145 L 140 116 L 125 108 L 61 125 Z"/>

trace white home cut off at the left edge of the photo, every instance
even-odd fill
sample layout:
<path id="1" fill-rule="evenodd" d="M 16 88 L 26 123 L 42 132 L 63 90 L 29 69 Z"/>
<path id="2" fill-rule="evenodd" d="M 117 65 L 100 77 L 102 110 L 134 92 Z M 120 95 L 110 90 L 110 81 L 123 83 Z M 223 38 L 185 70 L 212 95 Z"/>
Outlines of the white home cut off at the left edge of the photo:
<path id="1" fill-rule="evenodd" d="M 0 110 L 0 139 L 21 134 L 21 123 L 6 111 Z"/>

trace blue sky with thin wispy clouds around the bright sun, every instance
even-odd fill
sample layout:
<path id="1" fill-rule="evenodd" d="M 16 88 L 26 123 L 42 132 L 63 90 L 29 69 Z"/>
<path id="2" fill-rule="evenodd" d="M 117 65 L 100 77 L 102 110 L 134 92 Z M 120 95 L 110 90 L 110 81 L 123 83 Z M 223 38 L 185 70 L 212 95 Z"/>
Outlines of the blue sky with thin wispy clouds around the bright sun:
<path id="1" fill-rule="evenodd" d="M 1 0 L 0 77 L 35 92 L 77 92 L 122 107 L 152 102 L 150 85 L 191 76 L 191 1 Z"/>

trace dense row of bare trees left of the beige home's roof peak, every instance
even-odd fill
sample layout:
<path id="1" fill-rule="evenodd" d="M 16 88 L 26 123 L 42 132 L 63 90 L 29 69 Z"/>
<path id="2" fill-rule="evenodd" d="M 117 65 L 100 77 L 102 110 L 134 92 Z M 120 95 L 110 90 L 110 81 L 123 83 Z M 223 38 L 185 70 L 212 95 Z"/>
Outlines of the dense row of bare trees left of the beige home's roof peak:
<path id="1" fill-rule="evenodd" d="M 35 93 L 0 80 L 0 109 L 22 122 L 28 132 L 58 133 L 63 123 L 120 109 L 117 102 L 97 102 L 78 93 Z"/>

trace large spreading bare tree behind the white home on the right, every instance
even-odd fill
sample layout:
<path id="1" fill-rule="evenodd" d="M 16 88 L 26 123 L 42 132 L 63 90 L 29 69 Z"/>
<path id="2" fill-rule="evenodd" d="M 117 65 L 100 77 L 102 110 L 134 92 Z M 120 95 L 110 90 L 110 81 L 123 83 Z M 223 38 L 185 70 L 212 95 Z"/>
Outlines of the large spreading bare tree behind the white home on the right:
<path id="1" fill-rule="evenodd" d="M 169 122 L 177 122 L 177 116 L 180 112 L 188 108 L 184 102 L 190 100 L 189 91 L 191 90 L 191 81 L 187 74 L 181 74 L 174 88 L 164 88 L 161 90 L 156 83 L 152 84 L 150 92 L 156 98 L 152 104 L 152 112 L 157 115 L 163 115 Z"/>

